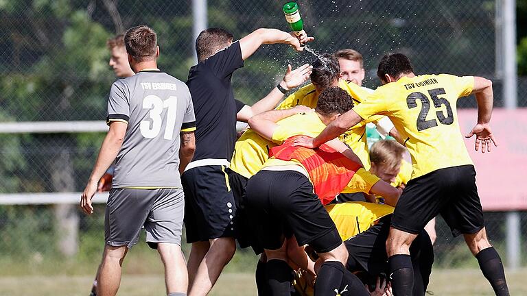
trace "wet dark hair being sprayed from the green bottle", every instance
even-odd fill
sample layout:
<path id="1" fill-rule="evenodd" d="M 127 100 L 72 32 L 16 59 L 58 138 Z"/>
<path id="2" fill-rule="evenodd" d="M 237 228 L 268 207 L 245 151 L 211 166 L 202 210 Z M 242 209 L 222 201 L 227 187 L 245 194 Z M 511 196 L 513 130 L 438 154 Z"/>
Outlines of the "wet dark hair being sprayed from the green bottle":
<path id="1" fill-rule="evenodd" d="M 312 84 L 320 89 L 325 89 L 340 77 L 340 65 L 335 56 L 323 53 L 320 58 L 312 62 L 313 70 L 309 78 Z"/>

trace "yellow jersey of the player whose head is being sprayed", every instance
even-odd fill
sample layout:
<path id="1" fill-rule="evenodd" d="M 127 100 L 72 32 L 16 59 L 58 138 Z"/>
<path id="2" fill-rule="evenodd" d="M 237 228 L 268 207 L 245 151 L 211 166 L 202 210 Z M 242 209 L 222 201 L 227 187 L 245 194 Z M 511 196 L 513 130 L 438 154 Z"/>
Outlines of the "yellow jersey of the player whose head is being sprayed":
<path id="1" fill-rule="evenodd" d="M 354 84 L 353 82 L 345 82 L 340 80 L 338 86 L 353 98 L 353 103 L 358 106 L 370 93 L 368 90 Z M 296 91 L 296 93 L 285 98 L 277 107 L 278 110 L 293 108 L 294 106 L 303 105 L 309 108 L 316 108 L 318 102 L 318 93 L 316 93 L 315 86 L 308 84 Z M 370 156 L 368 153 L 368 143 L 366 141 L 366 123 L 377 122 L 382 116 L 372 116 L 371 118 L 358 123 L 351 127 L 347 132 L 340 135 L 340 140 L 345 143 L 362 161 L 364 169 L 370 169 Z"/>

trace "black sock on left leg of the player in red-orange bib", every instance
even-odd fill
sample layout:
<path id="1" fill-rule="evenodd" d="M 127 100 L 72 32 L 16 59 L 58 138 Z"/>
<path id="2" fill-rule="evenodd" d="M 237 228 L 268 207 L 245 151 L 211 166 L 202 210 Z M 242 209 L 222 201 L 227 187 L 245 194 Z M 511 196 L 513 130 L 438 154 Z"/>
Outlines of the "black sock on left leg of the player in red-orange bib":
<path id="1" fill-rule="evenodd" d="M 288 262 L 272 259 L 266 263 L 266 294 L 290 295 L 293 269 Z"/>

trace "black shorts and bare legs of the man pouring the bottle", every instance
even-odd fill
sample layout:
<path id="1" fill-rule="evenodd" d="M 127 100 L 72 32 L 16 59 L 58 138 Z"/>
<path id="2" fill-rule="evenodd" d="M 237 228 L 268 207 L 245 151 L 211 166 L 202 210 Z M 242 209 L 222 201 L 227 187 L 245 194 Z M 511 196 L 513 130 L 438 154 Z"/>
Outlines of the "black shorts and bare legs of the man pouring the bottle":
<path id="1" fill-rule="evenodd" d="M 236 250 L 235 201 L 223 166 L 185 171 L 182 183 L 187 242 L 193 243 L 189 275 L 194 278 L 189 282 L 189 295 L 207 295 Z M 202 243 L 207 240 L 208 249 Z"/>

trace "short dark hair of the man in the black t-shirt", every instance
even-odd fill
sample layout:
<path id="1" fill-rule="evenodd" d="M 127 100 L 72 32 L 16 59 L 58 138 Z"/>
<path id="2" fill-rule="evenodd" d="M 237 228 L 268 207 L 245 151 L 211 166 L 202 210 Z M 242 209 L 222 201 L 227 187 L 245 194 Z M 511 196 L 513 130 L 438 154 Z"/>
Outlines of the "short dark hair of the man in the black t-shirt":
<path id="1" fill-rule="evenodd" d="M 201 62 L 213 56 L 216 51 L 229 46 L 230 42 L 233 42 L 233 34 L 225 29 L 218 27 L 204 29 L 196 38 L 198 61 Z"/>

